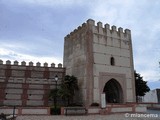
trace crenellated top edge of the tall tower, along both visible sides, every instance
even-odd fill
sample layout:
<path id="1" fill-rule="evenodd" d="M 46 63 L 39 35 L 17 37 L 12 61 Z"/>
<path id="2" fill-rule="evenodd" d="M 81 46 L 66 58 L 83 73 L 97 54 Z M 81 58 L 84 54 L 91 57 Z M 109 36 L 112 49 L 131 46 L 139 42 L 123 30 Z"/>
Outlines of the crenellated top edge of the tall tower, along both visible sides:
<path id="1" fill-rule="evenodd" d="M 81 26 L 79 26 L 77 29 L 75 29 L 74 31 L 72 31 L 70 34 L 68 34 L 65 38 L 68 38 L 70 36 L 72 36 L 73 34 L 75 34 L 76 32 L 82 30 L 83 28 L 85 28 L 86 26 L 90 26 L 90 28 L 96 33 L 99 34 L 106 34 L 106 35 L 111 35 L 113 32 L 116 32 L 117 35 L 130 35 L 131 34 L 131 30 L 129 29 L 125 29 L 123 30 L 122 27 L 119 27 L 117 30 L 117 27 L 115 25 L 111 26 L 106 23 L 104 26 L 102 24 L 102 22 L 98 22 L 97 25 L 95 25 L 95 21 L 92 19 L 88 19 L 86 21 L 86 23 L 83 23 Z"/>

